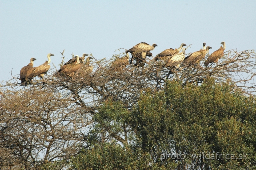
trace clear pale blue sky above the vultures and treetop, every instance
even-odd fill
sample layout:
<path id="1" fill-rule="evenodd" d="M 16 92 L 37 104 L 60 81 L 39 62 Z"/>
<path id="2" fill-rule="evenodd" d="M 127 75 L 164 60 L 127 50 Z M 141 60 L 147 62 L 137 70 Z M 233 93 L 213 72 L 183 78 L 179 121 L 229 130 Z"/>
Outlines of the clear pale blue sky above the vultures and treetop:
<path id="1" fill-rule="evenodd" d="M 0 0 L 0 81 L 37 60 L 38 66 L 52 53 L 59 68 L 65 49 L 66 61 L 74 55 L 92 53 L 111 57 L 118 48 L 139 42 L 158 46 L 155 56 L 181 43 L 202 43 L 210 54 L 226 42 L 226 50 L 256 49 L 255 0 Z"/>

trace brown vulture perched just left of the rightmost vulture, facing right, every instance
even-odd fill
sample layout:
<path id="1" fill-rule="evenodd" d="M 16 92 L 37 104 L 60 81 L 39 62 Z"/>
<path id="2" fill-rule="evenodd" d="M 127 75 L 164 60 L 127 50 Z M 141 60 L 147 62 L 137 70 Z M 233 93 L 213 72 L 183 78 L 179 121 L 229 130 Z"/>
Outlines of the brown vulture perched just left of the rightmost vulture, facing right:
<path id="1" fill-rule="evenodd" d="M 209 52 L 209 49 L 212 47 L 207 46 L 206 50 L 199 50 L 196 52 L 193 52 L 189 56 L 187 56 L 184 59 L 184 64 L 190 65 L 190 64 L 198 64 L 202 59 L 204 59 L 205 55 Z"/>

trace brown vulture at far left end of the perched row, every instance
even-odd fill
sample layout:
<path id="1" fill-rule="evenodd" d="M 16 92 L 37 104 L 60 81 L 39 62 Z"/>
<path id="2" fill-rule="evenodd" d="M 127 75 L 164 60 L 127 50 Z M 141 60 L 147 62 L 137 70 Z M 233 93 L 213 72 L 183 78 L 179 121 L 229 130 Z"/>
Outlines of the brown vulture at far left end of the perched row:
<path id="1" fill-rule="evenodd" d="M 27 66 L 24 66 L 20 69 L 20 78 L 19 78 L 19 80 L 21 80 L 21 85 L 22 86 L 26 86 L 27 81 L 31 80 L 33 78 L 32 76 L 30 76 L 30 77 L 28 77 L 28 76 L 33 71 L 34 60 L 36 60 L 36 58 L 30 58 L 30 63 Z"/>

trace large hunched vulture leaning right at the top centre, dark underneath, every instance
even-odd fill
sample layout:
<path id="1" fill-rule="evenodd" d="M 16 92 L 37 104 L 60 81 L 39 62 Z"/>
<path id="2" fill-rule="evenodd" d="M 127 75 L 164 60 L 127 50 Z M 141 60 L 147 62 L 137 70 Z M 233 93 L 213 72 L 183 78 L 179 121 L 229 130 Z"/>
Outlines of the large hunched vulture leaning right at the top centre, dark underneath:
<path id="1" fill-rule="evenodd" d="M 137 61 L 136 65 L 138 65 L 138 62 L 145 61 L 146 56 L 149 55 L 149 52 L 151 50 L 154 50 L 156 46 L 156 44 L 150 46 L 146 42 L 141 42 L 133 46 L 130 50 L 126 50 L 126 56 L 129 58 L 128 52 L 130 52 L 132 54 L 130 64 L 132 64 L 132 61 L 134 59 Z"/>

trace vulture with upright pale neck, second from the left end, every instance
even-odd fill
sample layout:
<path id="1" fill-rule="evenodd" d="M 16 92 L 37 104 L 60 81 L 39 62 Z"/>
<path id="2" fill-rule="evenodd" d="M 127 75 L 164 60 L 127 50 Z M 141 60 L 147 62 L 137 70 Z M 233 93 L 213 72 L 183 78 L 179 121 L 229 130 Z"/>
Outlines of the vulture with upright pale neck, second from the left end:
<path id="1" fill-rule="evenodd" d="M 44 74 L 46 74 L 51 67 L 50 66 L 51 56 L 54 56 L 54 54 L 49 53 L 47 55 L 48 61 L 44 62 L 44 64 L 40 66 L 34 67 L 32 73 L 29 76 L 32 76 L 32 77 L 38 76 L 42 80 L 44 80 Z"/>

